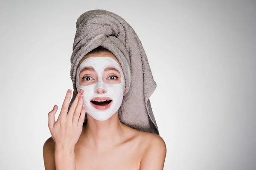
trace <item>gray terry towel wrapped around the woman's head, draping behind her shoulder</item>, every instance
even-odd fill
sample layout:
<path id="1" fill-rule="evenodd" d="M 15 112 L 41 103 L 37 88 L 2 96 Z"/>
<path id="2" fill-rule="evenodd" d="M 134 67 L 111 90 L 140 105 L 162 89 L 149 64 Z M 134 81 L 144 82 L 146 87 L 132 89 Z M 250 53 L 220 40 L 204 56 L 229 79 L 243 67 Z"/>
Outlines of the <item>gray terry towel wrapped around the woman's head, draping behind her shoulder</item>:
<path id="1" fill-rule="evenodd" d="M 70 76 L 76 89 L 76 71 L 80 60 L 93 49 L 102 46 L 118 59 L 125 77 L 126 91 L 118 110 L 120 121 L 136 130 L 159 135 L 149 97 L 156 89 L 142 43 L 133 28 L 110 11 L 87 11 L 76 21 L 76 35 L 71 55 Z M 85 94 L 86 95 L 86 94 Z M 70 101 L 72 105 L 76 94 Z M 87 122 L 85 117 L 84 124 Z"/>

